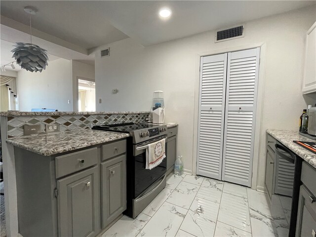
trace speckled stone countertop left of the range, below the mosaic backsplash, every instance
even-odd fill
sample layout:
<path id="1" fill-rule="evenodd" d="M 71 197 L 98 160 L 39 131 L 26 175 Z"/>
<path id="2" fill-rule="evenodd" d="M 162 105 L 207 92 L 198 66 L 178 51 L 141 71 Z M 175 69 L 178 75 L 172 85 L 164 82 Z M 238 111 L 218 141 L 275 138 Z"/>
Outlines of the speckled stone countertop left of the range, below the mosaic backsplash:
<path id="1" fill-rule="evenodd" d="M 6 142 L 43 156 L 51 156 L 125 137 L 129 137 L 129 134 L 84 129 L 70 132 L 45 133 L 36 136 L 23 136 L 7 139 Z"/>

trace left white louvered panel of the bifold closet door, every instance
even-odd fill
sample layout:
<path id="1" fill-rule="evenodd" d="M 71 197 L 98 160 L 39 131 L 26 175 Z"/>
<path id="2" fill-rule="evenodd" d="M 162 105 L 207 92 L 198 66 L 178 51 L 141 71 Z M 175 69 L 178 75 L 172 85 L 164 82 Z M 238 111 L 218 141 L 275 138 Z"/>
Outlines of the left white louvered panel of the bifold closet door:
<path id="1" fill-rule="evenodd" d="M 201 58 L 197 174 L 221 179 L 227 53 Z"/>

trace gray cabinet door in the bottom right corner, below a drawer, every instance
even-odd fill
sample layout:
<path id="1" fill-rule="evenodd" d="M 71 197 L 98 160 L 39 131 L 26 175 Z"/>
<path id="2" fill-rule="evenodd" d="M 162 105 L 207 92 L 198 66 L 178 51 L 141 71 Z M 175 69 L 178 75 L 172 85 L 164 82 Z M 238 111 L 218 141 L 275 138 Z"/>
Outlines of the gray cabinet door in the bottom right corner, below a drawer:
<path id="1" fill-rule="evenodd" d="M 301 185 L 298 204 L 296 236 L 315 237 L 316 233 L 316 201 L 315 197 Z"/>

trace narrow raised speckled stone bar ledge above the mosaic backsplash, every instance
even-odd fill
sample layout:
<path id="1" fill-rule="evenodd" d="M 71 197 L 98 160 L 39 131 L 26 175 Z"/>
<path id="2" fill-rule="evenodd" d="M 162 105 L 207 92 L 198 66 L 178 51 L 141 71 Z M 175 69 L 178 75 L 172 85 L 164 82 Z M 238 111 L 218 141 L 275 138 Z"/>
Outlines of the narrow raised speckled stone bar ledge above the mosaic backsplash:
<path id="1" fill-rule="evenodd" d="M 0 112 L 0 116 L 49 116 L 49 115 L 120 115 L 120 114 L 149 114 L 148 111 L 96 111 L 96 112 L 26 112 L 26 111 L 9 111 Z"/>

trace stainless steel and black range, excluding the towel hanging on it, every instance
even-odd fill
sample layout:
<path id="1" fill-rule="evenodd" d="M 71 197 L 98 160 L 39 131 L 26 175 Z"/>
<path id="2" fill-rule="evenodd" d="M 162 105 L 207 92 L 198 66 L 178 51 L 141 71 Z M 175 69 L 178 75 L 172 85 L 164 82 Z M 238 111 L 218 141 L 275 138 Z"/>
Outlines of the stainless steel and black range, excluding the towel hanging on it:
<path id="1" fill-rule="evenodd" d="M 151 170 L 145 167 L 146 148 L 151 143 L 167 139 L 167 126 L 120 123 L 94 126 L 92 129 L 130 134 L 127 138 L 127 210 L 124 214 L 136 218 L 166 185 L 167 157 Z"/>

